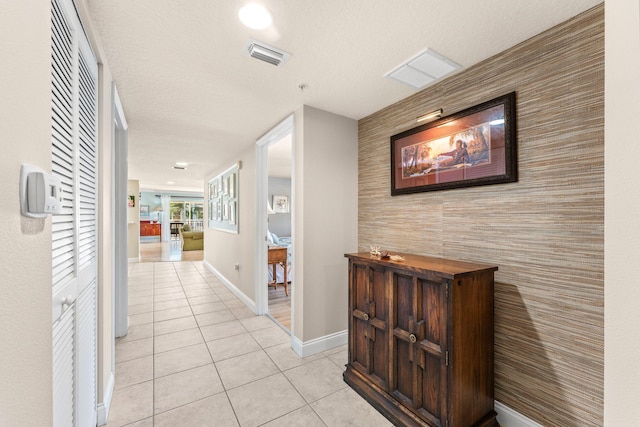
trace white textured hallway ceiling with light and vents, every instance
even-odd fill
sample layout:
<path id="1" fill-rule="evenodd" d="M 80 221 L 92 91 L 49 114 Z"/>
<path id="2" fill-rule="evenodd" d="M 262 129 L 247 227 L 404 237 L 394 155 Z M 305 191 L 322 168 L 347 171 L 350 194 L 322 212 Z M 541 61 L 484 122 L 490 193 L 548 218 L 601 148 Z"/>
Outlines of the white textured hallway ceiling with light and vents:
<path id="1" fill-rule="evenodd" d="M 248 0 L 86 0 L 129 124 L 129 179 L 141 189 L 202 191 L 206 175 L 303 104 L 361 119 L 416 92 L 383 75 L 426 48 L 464 70 L 601 3 L 254 1 L 273 14 L 270 28 L 239 22 Z M 281 67 L 253 59 L 243 53 L 249 38 L 292 56 Z"/>

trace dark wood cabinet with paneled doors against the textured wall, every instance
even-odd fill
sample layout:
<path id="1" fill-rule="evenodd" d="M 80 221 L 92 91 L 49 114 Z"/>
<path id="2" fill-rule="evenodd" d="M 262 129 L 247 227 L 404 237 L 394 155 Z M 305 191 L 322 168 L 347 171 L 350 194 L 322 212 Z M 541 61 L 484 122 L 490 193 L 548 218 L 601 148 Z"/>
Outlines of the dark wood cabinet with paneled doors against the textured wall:
<path id="1" fill-rule="evenodd" d="M 349 259 L 344 380 L 398 425 L 497 426 L 496 266 L 401 254 Z"/>

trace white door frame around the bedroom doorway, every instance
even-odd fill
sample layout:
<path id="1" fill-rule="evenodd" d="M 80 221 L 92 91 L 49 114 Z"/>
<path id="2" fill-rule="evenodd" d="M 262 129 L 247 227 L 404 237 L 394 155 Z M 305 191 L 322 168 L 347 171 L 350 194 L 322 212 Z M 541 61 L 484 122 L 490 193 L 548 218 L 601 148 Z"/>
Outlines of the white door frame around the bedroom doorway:
<path id="1" fill-rule="evenodd" d="M 295 120 L 294 114 L 289 115 L 268 133 L 256 141 L 256 235 L 255 235 L 255 295 L 256 314 L 264 315 L 269 312 L 269 294 L 266 285 L 268 280 L 267 269 L 267 230 L 269 227 L 267 216 L 267 199 L 269 197 L 269 173 L 268 157 L 269 146 L 291 134 L 291 194 L 295 188 Z M 290 198 L 291 211 L 291 244 L 296 245 L 295 239 L 295 198 Z M 294 254 L 291 254 L 291 263 L 295 263 Z M 293 282 L 293 280 L 292 280 Z M 293 287 L 289 292 L 291 297 L 291 337 L 294 332 L 294 292 Z"/>

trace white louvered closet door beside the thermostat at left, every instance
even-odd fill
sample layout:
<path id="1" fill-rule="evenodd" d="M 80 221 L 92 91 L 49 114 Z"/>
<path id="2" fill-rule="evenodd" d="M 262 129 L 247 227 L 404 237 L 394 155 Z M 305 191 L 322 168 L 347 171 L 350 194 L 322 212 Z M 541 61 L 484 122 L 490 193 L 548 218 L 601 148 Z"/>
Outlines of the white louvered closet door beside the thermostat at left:
<path id="1" fill-rule="evenodd" d="M 71 0 L 52 1 L 54 425 L 96 425 L 97 64 Z"/>

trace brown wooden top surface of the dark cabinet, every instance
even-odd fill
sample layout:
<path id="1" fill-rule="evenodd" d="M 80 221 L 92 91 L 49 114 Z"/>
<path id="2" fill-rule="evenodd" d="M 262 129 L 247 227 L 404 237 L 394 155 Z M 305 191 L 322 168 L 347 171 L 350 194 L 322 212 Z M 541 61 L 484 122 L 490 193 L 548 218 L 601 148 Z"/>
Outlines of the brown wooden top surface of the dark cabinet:
<path id="1" fill-rule="evenodd" d="M 400 255 L 404 261 L 391 261 L 389 259 L 380 259 L 377 256 L 371 255 L 369 252 L 361 252 L 354 254 L 345 254 L 344 256 L 350 260 L 367 262 L 371 264 L 377 264 L 386 267 L 393 268 L 405 268 L 415 271 L 432 271 L 438 272 L 445 276 L 454 277 L 462 274 L 469 274 L 480 271 L 496 271 L 498 269 L 495 265 L 478 264 L 475 262 L 456 261 L 445 258 L 435 258 L 423 255 L 413 255 L 405 253 L 394 252 L 393 255 Z"/>

